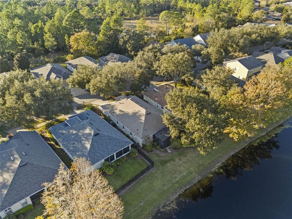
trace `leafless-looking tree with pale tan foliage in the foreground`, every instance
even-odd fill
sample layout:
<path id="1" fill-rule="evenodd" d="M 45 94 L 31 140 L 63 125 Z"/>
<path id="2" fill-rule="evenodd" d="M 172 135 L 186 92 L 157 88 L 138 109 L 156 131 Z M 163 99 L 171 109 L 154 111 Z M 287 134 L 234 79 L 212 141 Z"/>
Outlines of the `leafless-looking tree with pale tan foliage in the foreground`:
<path id="1" fill-rule="evenodd" d="M 70 170 L 62 164 L 53 182 L 44 186 L 44 215 L 62 219 L 123 217 L 123 203 L 113 187 L 85 158 L 73 162 Z"/>

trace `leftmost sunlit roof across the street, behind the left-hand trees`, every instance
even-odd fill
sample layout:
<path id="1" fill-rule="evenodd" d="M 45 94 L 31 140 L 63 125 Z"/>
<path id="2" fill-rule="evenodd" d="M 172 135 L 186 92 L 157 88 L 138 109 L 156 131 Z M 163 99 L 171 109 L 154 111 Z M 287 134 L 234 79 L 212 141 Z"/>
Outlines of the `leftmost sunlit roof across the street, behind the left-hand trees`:
<path id="1" fill-rule="evenodd" d="M 30 70 L 34 78 L 39 78 L 40 76 L 45 77 L 47 80 L 50 78 L 56 79 L 67 79 L 72 74 L 67 68 L 57 63 L 45 64 Z"/>

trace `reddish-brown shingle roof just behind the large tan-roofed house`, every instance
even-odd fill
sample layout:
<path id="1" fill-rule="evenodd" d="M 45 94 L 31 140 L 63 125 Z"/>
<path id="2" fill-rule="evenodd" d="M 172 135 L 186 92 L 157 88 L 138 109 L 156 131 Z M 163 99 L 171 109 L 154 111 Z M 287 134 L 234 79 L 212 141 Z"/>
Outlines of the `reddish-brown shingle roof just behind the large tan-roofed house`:
<path id="1" fill-rule="evenodd" d="M 171 85 L 163 85 L 157 87 L 150 87 L 147 91 L 143 92 L 144 96 L 149 97 L 160 106 L 166 106 L 165 94 L 173 90 Z"/>

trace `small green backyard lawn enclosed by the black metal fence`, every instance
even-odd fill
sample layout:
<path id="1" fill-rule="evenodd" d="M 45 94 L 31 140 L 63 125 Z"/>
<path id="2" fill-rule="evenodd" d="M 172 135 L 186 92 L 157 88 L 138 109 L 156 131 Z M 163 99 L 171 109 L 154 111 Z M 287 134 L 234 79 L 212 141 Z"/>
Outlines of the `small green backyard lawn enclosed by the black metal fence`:
<path id="1" fill-rule="evenodd" d="M 142 158 L 128 158 L 126 162 L 121 163 L 117 167 L 113 175 L 106 176 L 106 179 L 114 189 L 117 189 L 147 166 L 147 162 L 145 162 Z"/>

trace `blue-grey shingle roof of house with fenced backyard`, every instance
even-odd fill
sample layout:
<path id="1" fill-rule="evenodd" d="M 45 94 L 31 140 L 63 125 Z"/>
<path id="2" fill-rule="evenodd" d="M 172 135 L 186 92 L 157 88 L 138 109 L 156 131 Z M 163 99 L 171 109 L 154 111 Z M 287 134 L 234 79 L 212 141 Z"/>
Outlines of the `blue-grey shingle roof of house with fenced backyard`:
<path id="1" fill-rule="evenodd" d="M 133 143 L 90 109 L 49 130 L 73 158 L 93 165 Z"/>

